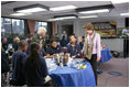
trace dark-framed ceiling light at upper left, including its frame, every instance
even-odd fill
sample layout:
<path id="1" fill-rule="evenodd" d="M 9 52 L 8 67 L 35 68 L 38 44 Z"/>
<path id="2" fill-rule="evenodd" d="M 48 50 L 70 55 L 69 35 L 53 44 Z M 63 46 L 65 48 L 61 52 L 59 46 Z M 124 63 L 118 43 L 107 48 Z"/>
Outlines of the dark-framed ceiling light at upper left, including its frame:
<path id="1" fill-rule="evenodd" d="M 21 13 L 28 13 L 28 12 L 40 12 L 40 11 L 47 11 L 48 7 L 42 6 L 42 4 L 31 4 L 26 7 L 19 7 L 14 8 L 13 11 L 21 12 Z"/>

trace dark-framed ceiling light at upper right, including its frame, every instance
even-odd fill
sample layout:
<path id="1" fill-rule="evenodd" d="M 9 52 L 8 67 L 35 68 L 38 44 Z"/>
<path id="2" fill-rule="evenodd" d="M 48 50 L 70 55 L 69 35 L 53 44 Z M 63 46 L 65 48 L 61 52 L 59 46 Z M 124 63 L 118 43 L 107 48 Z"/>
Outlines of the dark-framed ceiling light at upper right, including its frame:
<path id="1" fill-rule="evenodd" d="M 78 8 L 76 11 L 83 14 L 109 12 L 115 7 L 112 4 Z"/>

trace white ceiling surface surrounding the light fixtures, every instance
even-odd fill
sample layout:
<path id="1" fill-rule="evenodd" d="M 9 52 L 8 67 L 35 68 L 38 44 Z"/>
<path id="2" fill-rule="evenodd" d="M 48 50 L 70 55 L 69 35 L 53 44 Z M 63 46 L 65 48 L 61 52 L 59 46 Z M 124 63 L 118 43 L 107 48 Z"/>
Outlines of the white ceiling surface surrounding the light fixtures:
<path id="1" fill-rule="evenodd" d="M 78 8 L 85 8 L 85 7 L 111 4 L 111 1 L 14 1 L 14 2 L 1 1 L 1 16 L 46 21 L 46 20 L 53 18 L 54 15 L 59 15 L 59 14 L 83 15 L 83 14 L 77 13 L 75 10 L 66 10 L 66 11 L 57 11 L 57 12 L 43 11 L 43 12 L 35 12 L 31 15 L 24 15 L 24 16 L 23 15 L 22 16 L 10 15 L 10 14 L 14 13 L 13 8 L 24 7 L 24 6 L 35 4 L 35 3 L 44 4 L 50 8 L 71 6 L 71 4 L 76 6 Z M 129 12 L 129 2 L 118 3 L 118 4 L 113 4 L 113 6 L 115 6 L 115 9 L 112 9 L 109 13 L 100 13 L 97 15 L 99 18 L 126 18 L 126 16 L 120 16 L 120 13 Z"/>

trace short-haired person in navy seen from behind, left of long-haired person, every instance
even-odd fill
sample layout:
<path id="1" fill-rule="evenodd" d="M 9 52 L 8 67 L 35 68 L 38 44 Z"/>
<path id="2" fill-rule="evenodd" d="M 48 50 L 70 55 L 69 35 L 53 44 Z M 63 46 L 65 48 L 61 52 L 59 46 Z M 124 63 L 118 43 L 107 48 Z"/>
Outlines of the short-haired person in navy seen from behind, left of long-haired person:
<path id="1" fill-rule="evenodd" d="M 21 41 L 19 43 L 18 52 L 12 55 L 12 79 L 10 85 L 23 86 L 25 84 L 25 75 L 23 70 L 23 64 L 26 58 L 28 43 L 26 41 Z"/>

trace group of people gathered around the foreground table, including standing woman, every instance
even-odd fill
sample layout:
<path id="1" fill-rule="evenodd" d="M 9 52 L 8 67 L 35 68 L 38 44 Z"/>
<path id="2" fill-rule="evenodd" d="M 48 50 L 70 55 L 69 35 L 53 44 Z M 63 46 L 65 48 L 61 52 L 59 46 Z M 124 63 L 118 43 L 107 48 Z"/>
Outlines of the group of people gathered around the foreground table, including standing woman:
<path id="1" fill-rule="evenodd" d="M 100 36 L 94 31 L 91 23 L 87 23 L 84 29 L 87 33 L 84 38 L 75 35 L 68 37 L 64 31 L 61 37 L 55 35 L 50 40 L 46 36 L 46 29 L 42 26 L 39 28 L 36 36 L 30 36 L 22 41 L 15 37 L 12 45 L 14 53 L 11 58 L 11 84 L 14 86 L 26 84 L 30 87 L 54 86 L 45 59 L 52 58 L 53 54 L 61 52 L 69 53 L 72 58 L 84 56 L 89 61 L 97 81 L 96 62 L 100 59 Z M 2 44 L 3 50 L 8 48 L 6 45 Z M 66 51 L 63 51 L 64 48 Z"/>

